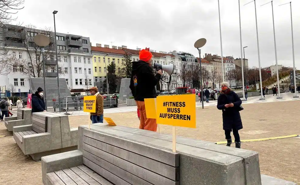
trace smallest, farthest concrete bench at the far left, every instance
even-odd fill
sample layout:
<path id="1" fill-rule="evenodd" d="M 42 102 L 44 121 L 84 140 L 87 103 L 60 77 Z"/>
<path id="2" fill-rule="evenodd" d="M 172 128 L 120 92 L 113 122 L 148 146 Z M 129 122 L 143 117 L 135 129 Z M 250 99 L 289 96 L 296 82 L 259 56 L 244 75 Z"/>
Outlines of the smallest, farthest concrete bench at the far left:
<path id="1" fill-rule="evenodd" d="M 17 116 L 5 117 L 5 127 L 8 131 L 12 131 L 15 126 L 31 124 L 31 109 L 22 108 L 17 110 Z"/>

